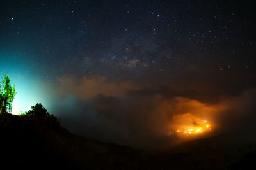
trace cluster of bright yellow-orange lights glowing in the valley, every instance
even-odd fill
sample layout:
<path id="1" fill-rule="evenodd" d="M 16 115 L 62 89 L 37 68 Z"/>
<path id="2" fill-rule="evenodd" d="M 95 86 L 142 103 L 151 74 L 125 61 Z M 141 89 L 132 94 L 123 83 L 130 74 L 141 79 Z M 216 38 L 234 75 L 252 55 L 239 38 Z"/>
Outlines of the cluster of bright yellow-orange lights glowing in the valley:
<path id="1" fill-rule="evenodd" d="M 200 125 L 183 127 L 177 129 L 175 132 L 182 133 L 182 134 L 200 134 L 202 132 L 211 131 L 211 124 L 204 120 Z"/>

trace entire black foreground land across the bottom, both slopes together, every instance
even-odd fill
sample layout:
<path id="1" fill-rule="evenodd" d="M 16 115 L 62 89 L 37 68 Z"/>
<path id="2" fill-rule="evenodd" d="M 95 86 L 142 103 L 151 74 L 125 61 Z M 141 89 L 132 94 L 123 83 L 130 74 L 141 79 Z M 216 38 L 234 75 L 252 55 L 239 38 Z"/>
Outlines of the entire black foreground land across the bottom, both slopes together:
<path id="1" fill-rule="evenodd" d="M 236 134 L 154 154 L 82 138 L 46 118 L 0 115 L 0 134 L 0 169 L 246 169 L 256 160 L 255 143 Z"/>

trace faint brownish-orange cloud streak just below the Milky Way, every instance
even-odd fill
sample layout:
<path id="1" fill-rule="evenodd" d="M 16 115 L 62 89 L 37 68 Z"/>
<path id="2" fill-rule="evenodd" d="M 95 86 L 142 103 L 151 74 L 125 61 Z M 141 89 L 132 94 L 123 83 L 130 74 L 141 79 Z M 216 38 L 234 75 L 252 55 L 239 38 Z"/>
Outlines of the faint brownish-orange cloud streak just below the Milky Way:
<path id="1" fill-rule="evenodd" d="M 77 78 L 74 75 L 61 76 L 58 78 L 58 82 L 60 83 L 60 94 L 73 94 L 79 99 L 90 99 L 97 94 L 117 96 L 128 90 L 138 89 L 134 83 L 108 81 L 105 76 L 92 72 L 82 78 Z"/>

